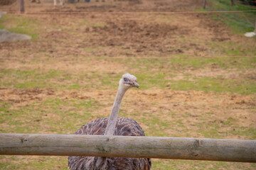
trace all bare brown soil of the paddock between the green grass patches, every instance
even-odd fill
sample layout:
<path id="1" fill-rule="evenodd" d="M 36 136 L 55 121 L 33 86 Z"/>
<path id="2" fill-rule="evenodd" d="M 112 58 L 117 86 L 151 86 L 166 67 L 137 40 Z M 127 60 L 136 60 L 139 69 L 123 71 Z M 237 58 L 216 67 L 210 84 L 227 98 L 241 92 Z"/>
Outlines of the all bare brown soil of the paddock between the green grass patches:
<path id="1" fill-rule="evenodd" d="M 14 13 L 14 16 L 26 16 L 31 21 L 36 21 L 38 28 L 34 31 L 38 37 L 20 42 L 0 43 L 0 70 L 36 69 L 48 72 L 56 69 L 70 72 L 70 74 L 94 72 L 99 75 L 115 76 L 125 72 L 132 74 L 132 71 L 140 71 L 140 68 L 131 68 L 125 62 L 117 60 L 130 59 L 136 65 L 137 58 L 146 58 L 152 61 L 163 60 L 166 56 L 185 56 L 184 60 L 186 57 L 202 57 L 202 59 L 218 55 L 222 57 L 222 51 L 212 50 L 209 41 L 217 42 L 217 44 L 218 42 L 246 44 L 251 49 L 256 47 L 255 40 L 231 33 L 230 28 L 223 23 L 213 21 L 211 14 L 172 13 L 174 11 L 194 11 L 196 8 L 201 8 L 199 6 L 202 6 L 201 0 L 106 0 L 106 2 L 91 1 L 87 4 L 80 1 L 76 4 L 65 4 L 64 7 L 54 7 L 52 0 L 41 0 L 41 4 L 31 4 L 25 0 L 26 13 L 20 14 L 17 12 L 18 2 L 16 1 L 11 6 L 1 6 L 0 11 L 9 11 L 9 13 Z M 235 50 L 235 46 L 233 50 Z M 139 64 L 143 67 L 143 63 Z M 188 79 L 188 74 L 193 77 L 221 76 L 223 79 L 256 79 L 255 69 L 246 71 L 223 69 L 215 64 L 209 64 L 199 69 L 188 67 L 183 70 L 183 67 L 179 67 L 178 64 L 172 65 L 171 68 L 169 64 L 161 64 L 153 66 L 151 70 L 160 73 L 175 71 L 176 77 L 167 77 L 167 79 L 175 81 L 185 78 L 186 80 L 193 79 Z M 14 74 L 14 79 L 15 76 Z M 0 81 L 1 79 L 4 79 L 4 75 L 0 77 Z M 85 80 L 93 85 L 99 84 L 100 78 L 90 79 L 89 74 L 88 77 L 82 77 L 77 81 Z M 59 79 L 53 81 L 50 83 L 63 84 Z M 140 82 L 138 81 L 138 83 Z M 141 85 L 143 86 L 143 84 Z M 90 114 L 95 118 L 100 118 L 100 115 L 106 117 L 109 115 L 115 94 L 116 89 L 114 88 L 95 89 L 93 86 L 92 88 L 63 91 L 53 88 L 15 89 L 13 86 L 4 86 L 0 88 L 0 104 L 11 103 L 11 109 L 22 109 L 24 106 L 31 106 L 34 103 L 54 98 L 63 100 L 92 98 L 98 103 L 102 103 L 102 106 Z M 144 123 L 145 117 L 146 120 L 153 117 L 173 123 L 171 127 L 161 129 L 165 136 L 169 137 L 206 137 L 201 131 L 210 126 L 213 128 L 215 125 L 218 127 L 218 132 L 214 137 L 251 140 L 250 135 L 243 135 L 240 129 L 234 127 L 242 127 L 246 130 L 256 128 L 255 98 L 255 94 L 175 91 L 171 89 L 171 84 L 168 84 L 162 89 L 154 87 L 128 91 L 122 101 L 121 109 L 129 117 L 138 120 L 146 135 L 154 135 L 154 128 L 159 128 L 157 123 L 151 123 L 152 125 L 156 124 L 154 127 Z M 64 106 L 60 109 L 69 111 L 70 108 Z M 137 111 L 140 113 L 136 114 Z M 57 120 L 59 115 L 47 113 L 43 116 Z M 41 123 L 38 118 L 33 121 Z M 84 121 L 76 123 L 79 128 Z M 7 123 L 1 125 L 1 127 L 7 128 L 14 126 L 7 125 Z M 50 125 L 42 125 L 37 133 L 52 133 L 50 130 Z M 70 131 L 70 133 L 72 132 Z M 23 163 L 31 162 L 31 160 L 26 161 L 28 157 L 23 158 Z M 31 157 L 31 159 L 33 158 L 33 162 L 36 164 L 46 162 L 42 157 Z M 63 159 L 63 157 L 50 157 L 50 159 Z M 158 159 L 154 161 L 156 160 Z M 1 162 L 10 164 L 9 167 L 14 168 L 13 165 L 18 162 L 16 166 L 19 166 L 21 160 L 16 161 L 16 159 L 7 157 L 7 159 L 1 159 Z M 166 162 L 166 160 L 161 159 L 161 162 Z M 46 162 L 46 164 L 50 164 L 49 167 L 53 166 L 53 169 L 55 167 L 52 162 Z M 63 169 L 66 164 L 66 162 L 63 163 Z M 182 163 L 179 169 L 198 169 L 199 163 L 188 164 Z M 225 169 L 225 166 L 222 165 L 218 164 L 217 166 L 220 166 L 220 169 Z M 28 166 L 23 169 L 36 167 L 32 163 Z M 210 162 L 208 166 L 215 166 L 215 163 Z M 230 169 L 242 169 L 241 167 L 247 169 L 251 166 L 250 164 L 240 166 L 238 163 L 230 167 L 232 167 Z M 60 167 L 55 167 L 55 169 L 60 169 Z"/>

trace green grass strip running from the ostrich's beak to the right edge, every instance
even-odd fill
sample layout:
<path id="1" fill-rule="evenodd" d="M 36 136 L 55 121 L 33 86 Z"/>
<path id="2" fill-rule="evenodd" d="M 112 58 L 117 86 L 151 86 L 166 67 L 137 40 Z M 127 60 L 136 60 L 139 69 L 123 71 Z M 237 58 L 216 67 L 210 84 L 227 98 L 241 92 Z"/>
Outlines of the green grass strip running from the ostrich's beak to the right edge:
<path id="1" fill-rule="evenodd" d="M 166 74 L 137 74 L 141 89 L 159 87 L 161 89 L 169 86 L 173 90 L 181 91 L 214 91 L 217 93 L 230 92 L 233 94 L 254 94 L 256 93 L 255 79 L 224 79 L 221 77 L 199 77 L 188 80 L 184 77 L 181 80 L 169 80 L 164 77 Z M 190 76 L 191 77 L 191 76 Z"/>

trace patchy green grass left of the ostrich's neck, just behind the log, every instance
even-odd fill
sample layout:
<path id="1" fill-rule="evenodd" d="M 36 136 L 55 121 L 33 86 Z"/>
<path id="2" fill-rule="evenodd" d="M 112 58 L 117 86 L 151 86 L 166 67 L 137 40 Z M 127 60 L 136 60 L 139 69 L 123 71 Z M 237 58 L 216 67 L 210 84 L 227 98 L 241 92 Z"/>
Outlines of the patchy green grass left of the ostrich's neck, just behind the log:
<path id="1" fill-rule="evenodd" d="M 54 98 L 21 108 L 11 108 L 11 103 L 6 102 L 1 102 L 0 105 L 0 123 L 9 127 L 1 128 L 1 132 L 58 134 L 75 132 L 81 125 L 94 118 L 90 111 L 100 106 L 93 98 Z"/>

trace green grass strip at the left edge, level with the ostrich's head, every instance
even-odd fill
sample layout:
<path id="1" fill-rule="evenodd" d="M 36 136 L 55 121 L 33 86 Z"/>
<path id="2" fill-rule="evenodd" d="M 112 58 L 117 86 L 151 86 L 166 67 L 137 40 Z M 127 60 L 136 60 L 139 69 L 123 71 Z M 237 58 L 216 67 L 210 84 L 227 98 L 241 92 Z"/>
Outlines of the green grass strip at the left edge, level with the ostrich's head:
<path id="1" fill-rule="evenodd" d="M 69 72 L 50 69 L 0 69 L 1 87 L 13 87 L 16 89 L 31 88 L 60 88 L 60 89 L 80 89 L 86 85 L 78 83 L 82 79 L 80 75 Z"/>

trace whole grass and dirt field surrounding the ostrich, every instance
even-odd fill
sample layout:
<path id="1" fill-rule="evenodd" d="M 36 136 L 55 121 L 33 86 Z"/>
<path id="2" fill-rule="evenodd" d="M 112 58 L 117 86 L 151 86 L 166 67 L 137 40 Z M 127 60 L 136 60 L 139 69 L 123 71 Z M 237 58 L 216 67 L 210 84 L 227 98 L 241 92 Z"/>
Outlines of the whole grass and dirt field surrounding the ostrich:
<path id="1" fill-rule="evenodd" d="M 207 10 L 255 9 L 230 8 L 228 2 L 211 1 Z M 140 88 L 127 92 L 119 116 L 137 120 L 146 136 L 256 140 L 256 39 L 243 36 L 253 30 L 255 13 L 65 14 L 202 11 L 196 0 L 126 3 L 34 4 L 27 9 L 64 14 L 0 18 L 1 29 L 32 36 L 0 44 L 0 132 L 73 134 L 110 114 L 118 81 L 129 72 Z M 67 169 L 67 164 L 67 157 L 0 156 L 0 169 Z M 163 170 L 256 168 L 167 159 L 152 164 Z"/>

